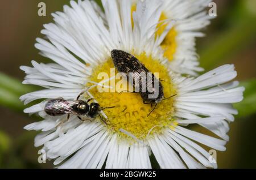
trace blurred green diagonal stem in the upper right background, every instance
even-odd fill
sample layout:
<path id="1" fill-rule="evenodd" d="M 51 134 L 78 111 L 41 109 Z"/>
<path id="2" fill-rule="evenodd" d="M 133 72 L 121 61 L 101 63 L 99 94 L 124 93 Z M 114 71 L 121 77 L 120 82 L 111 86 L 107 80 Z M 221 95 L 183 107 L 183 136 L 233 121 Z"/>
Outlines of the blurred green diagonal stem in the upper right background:
<path id="1" fill-rule="evenodd" d="M 238 22 L 236 27 L 222 32 L 214 41 L 210 41 L 207 49 L 201 50 L 201 66 L 208 71 L 223 64 L 223 60 L 255 40 L 256 25 L 252 22 L 251 19 Z"/>

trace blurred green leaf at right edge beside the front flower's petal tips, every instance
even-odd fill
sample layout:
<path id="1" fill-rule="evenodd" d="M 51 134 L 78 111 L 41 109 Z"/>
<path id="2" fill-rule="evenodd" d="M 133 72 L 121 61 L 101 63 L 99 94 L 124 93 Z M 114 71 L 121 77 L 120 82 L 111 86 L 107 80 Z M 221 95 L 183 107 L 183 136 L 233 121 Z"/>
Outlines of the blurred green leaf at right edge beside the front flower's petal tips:
<path id="1" fill-rule="evenodd" d="M 239 112 L 237 117 L 247 117 L 256 113 L 256 79 L 241 83 L 245 87 L 244 98 L 242 102 L 234 104 Z"/>

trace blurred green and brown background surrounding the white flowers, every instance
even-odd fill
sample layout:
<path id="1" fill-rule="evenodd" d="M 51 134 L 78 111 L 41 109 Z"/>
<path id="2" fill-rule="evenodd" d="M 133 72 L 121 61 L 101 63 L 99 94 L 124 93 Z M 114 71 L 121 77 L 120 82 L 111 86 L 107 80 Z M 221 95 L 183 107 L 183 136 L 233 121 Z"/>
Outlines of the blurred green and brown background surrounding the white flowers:
<path id="1" fill-rule="evenodd" d="M 38 3 L 45 2 L 47 16 L 38 16 Z M 230 124 L 227 151 L 217 153 L 219 168 L 256 168 L 253 155 L 256 138 L 256 1 L 215 0 L 217 18 L 204 30 L 207 37 L 197 39 L 201 66 L 210 70 L 234 63 L 237 79 L 245 85 L 245 100 L 236 104 L 240 115 Z M 38 163 L 34 148 L 36 132 L 23 127 L 39 121 L 23 114 L 18 98 L 35 87 L 22 85 L 20 65 L 31 60 L 45 62 L 34 48 L 35 38 L 43 37 L 43 24 L 52 22 L 51 12 L 61 11 L 68 0 L 9 0 L 0 7 L 0 168 L 52 168 L 52 163 Z M 204 132 L 200 127 L 192 127 Z M 205 132 L 207 133 L 207 132 Z"/>

